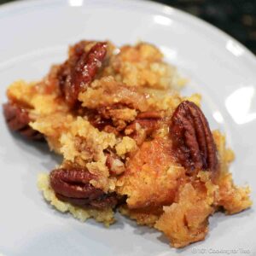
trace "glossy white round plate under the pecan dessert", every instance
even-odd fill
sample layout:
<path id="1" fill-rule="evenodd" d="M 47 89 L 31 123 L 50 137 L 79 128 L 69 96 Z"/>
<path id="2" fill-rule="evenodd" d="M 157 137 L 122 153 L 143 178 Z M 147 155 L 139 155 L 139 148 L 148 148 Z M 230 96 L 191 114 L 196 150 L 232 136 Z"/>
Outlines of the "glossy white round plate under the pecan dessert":
<path id="1" fill-rule="evenodd" d="M 63 61 L 79 39 L 115 44 L 145 40 L 191 79 L 184 93 L 201 92 L 212 128 L 227 132 L 235 149 L 236 183 L 249 183 L 256 201 L 256 61 L 236 40 L 207 23 L 164 5 L 119 0 L 42 0 L 0 8 L 0 100 L 15 79 L 40 79 Z M 56 212 L 36 187 L 38 172 L 57 163 L 48 148 L 12 135 L 0 115 L 0 254 L 4 255 L 255 255 L 255 207 L 210 218 L 205 241 L 169 247 L 156 230 L 117 216 L 106 229 Z M 221 251 L 222 250 L 222 251 Z M 224 251 L 225 250 L 225 251 Z"/>

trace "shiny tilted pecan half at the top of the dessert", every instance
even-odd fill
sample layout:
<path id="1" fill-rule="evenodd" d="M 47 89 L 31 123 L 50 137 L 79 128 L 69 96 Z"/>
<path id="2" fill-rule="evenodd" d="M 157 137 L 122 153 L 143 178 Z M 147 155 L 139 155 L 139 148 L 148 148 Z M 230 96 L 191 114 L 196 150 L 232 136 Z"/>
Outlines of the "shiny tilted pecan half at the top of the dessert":
<path id="1" fill-rule="evenodd" d="M 79 92 L 87 89 L 98 69 L 102 67 L 102 61 L 107 55 L 107 43 L 97 43 L 88 52 L 81 54 L 79 51 L 78 54 L 78 60 L 67 76 L 64 76 L 65 82 L 61 82 L 65 99 L 71 107 L 78 101 Z M 64 64 L 64 67 L 67 64 Z"/>

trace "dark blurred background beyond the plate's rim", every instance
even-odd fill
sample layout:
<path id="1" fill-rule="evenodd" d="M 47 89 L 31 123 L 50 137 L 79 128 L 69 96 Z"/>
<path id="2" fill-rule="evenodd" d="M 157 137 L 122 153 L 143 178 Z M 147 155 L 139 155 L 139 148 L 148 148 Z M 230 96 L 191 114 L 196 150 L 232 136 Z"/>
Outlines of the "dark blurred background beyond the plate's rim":
<path id="1" fill-rule="evenodd" d="M 14 0 L 0 0 L 0 3 Z M 92 0 L 93 1 L 93 0 Z M 156 0 L 207 20 L 256 54 L 256 0 Z"/>

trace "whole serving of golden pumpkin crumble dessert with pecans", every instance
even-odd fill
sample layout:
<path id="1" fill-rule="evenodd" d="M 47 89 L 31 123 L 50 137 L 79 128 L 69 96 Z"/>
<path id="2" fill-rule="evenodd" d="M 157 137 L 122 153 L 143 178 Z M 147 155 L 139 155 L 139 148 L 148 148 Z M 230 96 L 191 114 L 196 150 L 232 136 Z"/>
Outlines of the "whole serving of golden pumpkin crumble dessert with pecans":
<path id="1" fill-rule="evenodd" d="M 81 41 L 41 81 L 11 84 L 3 113 L 10 130 L 62 155 L 38 177 L 57 210 L 105 225 L 119 211 L 184 247 L 205 238 L 214 212 L 252 204 L 233 183 L 224 135 L 210 130 L 200 95 L 180 95 L 184 83 L 154 45 Z"/>

